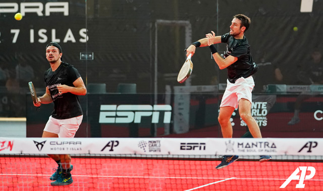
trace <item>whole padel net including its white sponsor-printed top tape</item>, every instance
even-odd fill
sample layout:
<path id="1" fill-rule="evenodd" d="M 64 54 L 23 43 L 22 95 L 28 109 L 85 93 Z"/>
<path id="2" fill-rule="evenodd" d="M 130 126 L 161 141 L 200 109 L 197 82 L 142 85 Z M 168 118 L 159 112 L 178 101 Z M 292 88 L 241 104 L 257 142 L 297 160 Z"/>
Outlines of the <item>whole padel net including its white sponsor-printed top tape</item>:
<path id="1" fill-rule="evenodd" d="M 60 190 L 321 190 L 319 138 L 5 138 L 1 190 L 53 190 L 47 154 L 71 154 Z M 221 155 L 239 155 L 222 169 Z M 271 155 L 260 163 L 259 155 Z M 299 188 L 299 189 L 298 189 Z"/>

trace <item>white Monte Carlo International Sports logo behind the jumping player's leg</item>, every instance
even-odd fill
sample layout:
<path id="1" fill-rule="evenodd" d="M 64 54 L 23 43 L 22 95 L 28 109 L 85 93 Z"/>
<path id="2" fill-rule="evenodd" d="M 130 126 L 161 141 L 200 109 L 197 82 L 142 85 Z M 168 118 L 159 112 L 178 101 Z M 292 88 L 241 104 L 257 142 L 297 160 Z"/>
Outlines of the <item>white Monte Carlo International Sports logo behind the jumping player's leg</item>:
<path id="1" fill-rule="evenodd" d="M 267 126 L 267 113 L 267 102 L 252 102 L 251 115 L 256 120 L 259 127 Z M 240 125 L 247 126 L 243 120 L 241 120 Z"/>

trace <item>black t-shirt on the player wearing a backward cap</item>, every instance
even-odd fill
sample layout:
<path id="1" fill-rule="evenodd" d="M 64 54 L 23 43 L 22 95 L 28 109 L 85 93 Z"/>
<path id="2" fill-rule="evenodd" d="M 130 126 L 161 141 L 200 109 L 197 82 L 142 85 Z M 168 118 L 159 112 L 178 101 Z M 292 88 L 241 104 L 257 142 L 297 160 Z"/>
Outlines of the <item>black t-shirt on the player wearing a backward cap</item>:
<path id="1" fill-rule="evenodd" d="M 60 94 L 57 88 L 58 85 L 64 84 L 74 86 L 73 82 L 79 77 L 81 75 L 77 69 L 65 62 L 55 71 L 51 68 L 45 71 L 44 80 L 54 103 L 54 111 L 51 113 L 53 118 L 70 119 L 83 115 L 78 96 L 70 92 Z"/>

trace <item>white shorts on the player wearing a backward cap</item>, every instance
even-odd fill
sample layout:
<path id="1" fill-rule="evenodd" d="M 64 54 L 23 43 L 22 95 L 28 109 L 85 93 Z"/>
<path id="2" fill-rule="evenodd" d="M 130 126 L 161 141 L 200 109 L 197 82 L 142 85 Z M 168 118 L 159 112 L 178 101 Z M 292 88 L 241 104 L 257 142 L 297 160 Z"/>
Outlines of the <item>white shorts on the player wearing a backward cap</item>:
<path id="1" fill-rule="evenodd" d="M 59 120 L 49 117 L 44 131 L 58 134 L 59 137 L 73 138 L 82 123 L 83 115 L 75 118 Z"/>

